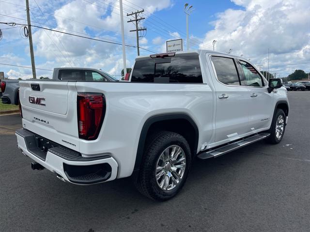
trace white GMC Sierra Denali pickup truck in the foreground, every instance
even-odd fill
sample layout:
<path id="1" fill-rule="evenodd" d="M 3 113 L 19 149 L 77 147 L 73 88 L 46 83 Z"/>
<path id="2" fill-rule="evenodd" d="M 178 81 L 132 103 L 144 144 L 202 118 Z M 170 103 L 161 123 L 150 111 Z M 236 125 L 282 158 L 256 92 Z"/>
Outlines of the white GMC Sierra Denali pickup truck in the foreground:
<path id="1" fill-rule="evenodd" d="M 138 57 L 129 82 L 20 81 L 18 148 L 65 182 L 133 176 L 165 201 L 192 160 L 281 141 L 287 91 L 247 60 L 208 50 Z"/>

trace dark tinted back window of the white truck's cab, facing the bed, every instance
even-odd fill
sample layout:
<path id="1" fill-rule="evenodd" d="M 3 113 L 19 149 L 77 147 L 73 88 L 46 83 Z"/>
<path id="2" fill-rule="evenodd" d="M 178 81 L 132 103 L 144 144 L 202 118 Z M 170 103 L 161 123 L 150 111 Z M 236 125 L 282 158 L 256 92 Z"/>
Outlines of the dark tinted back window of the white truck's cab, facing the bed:
<path id="1" fill-rule="evenodd" d="M 131 82 L 202 83 L 198 56 L 137 61 Z"/>

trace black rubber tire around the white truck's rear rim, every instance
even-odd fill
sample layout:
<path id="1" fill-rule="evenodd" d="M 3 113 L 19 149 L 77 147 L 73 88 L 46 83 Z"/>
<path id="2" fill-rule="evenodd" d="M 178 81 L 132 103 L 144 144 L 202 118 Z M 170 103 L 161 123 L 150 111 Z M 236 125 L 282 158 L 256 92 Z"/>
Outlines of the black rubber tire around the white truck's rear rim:
<path id="1" fill-rule="evenodd" d="M 162 190 L 155 178 L 156 164 L 160 155 L 170 147 L 177 145 L 184 151 L 186 167 L 180 182 L 171 190 Z M 174 132 L 160 131 L 155 133 L 147 144 L 142 158 L 138 179 L 135 184 L 137 189 L 148 198 L 155 201 L 167 201 L 174 197 L 184 186 L 191 167 L 191 152 L 186 139 Z"/>

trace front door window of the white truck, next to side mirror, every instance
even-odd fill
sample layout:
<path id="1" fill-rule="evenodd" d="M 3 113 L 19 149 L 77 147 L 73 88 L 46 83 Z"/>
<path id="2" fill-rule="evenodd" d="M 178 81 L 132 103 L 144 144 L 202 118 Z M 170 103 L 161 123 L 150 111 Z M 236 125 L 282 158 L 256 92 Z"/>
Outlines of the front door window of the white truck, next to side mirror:
<path id="1" fill-rule="evenodd" d="M 246 86 L 254 86 L 254 87 L 262 87 L 263 86 L 263 80 L 261 75 L 259 75 L 258 71 L 245 61 L 238 61 L 244 76 L 241 76 L 241 84 Z"/>

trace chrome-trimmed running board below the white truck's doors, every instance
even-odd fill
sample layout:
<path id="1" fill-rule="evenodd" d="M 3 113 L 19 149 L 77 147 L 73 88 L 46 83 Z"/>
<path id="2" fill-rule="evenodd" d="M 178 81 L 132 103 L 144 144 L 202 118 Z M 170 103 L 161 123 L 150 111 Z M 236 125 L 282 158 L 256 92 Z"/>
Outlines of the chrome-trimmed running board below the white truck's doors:
<path id="1" fill-rule="evenodd" d="M 253 142 L 257 142 L 262 139 L 266 139 L 270 136 L 270 133 L 259 133 L 256 135 L 253 135 L 251 137 L 248 137 L 246 139 L 237 140 L 235 142 L 232 142 L 230 144 L 225 144 L 221 147 L 217 147 L 205 152 L 200 153 L 197 155 L 200 159 L 208 159 L 208 158 L 215 158 L 220 155 L 224 155 L 226 153 L 232 152 L 234 150 L 237 150 L 241 147 L 245 147 Z"/>

